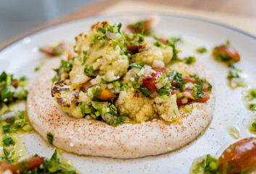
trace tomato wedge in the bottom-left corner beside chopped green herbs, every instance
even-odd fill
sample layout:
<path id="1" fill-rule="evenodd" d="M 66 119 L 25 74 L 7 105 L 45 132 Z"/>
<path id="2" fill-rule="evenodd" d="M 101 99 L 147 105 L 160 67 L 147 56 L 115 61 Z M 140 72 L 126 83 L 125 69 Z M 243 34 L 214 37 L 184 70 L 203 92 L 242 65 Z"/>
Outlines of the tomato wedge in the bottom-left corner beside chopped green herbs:
<path id="1" fill-rule="evenodd" d="M 25 167 L 25 169 L 32 170 L 33 168 L 39 167 L 41 164 L 44 163 L 44 157 L 29 157 L 27 159 L 22 160 L 22 162 L 28 162 L 28 166 Z M 17 170 L 20 169 L 22 162 L 18 162 L 17 164 L 13 165 L 3 161 L 0 162 L 0 168 L 3 171 L 11 170 L 13 174 L 16 174 Z"/>

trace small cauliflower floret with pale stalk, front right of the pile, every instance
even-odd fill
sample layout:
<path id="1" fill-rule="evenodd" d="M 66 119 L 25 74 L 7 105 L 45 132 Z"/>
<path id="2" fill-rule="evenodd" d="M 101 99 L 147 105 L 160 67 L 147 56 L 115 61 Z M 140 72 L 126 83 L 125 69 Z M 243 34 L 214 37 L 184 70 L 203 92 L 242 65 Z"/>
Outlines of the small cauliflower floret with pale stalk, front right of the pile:
<path id="1" fill-rule="evenodd" d="M 168 123 L 182 123 L 181 113 L 178 111 L 176 94 L 162 99 L 160 96 L 154 98 L 154 111 Z"/>

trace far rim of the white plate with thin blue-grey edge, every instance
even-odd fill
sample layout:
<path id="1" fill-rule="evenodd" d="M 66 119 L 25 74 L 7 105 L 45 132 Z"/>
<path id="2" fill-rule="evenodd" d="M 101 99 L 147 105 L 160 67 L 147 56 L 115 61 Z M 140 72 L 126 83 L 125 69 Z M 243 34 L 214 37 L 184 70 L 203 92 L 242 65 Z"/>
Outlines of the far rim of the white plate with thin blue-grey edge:
<path id="1" fill-rule="evenodd" d="M 247 36 L 249 38 L 252 38 L 256 41 L 256 36 L 251 34 L 251 33 L 248 33 L 247 31 L 241 30 L 239 28 L 236 28 L 234 26 L 225 24 L 223 22 L 217 22 L 215 20 L 209 20 L 209 19 L 204 18 L 204 17 L 196 17 L 194 15 L 189 16 L 188 14 L 166 13 L 166 12 L 125 12 L 125 13 L 122 13 L 122 14 L 121 13 L 96 14 L 96 15 L 91 15 L 91 16 L 88 16 L 88 17 L 79 17 L 79 18 L 74 19 L 74 20 L 68 20 L 68 21 L 56 23 L 56 24 L 51 25 L 49 27 L 41 28 L 40 30 L 35 30 L 34 32 L 28 33 L 28 35 L 25 35 L 22 38 L 17 38 L 17 40 L 12 41 L 11 43 L 7 43 L 7 45 L 5 45 L 3 48 L 0 49 L 0 54 L 2 52 L 4 52 L 6 49 L 8 49 L 10 46 L 15 46 L 15 44 L 20 43 L 24 38 L 27 38 L 29 36 L 36 36 L 36 35 L 44 32 L 46 30 L 50 30 L 51 28 L 56 28 L 56 27 L 59 27 L 61 25 L 67 25 L 68 23 L 78 22 L 80 20 L 85 20 L 85 19 L 94 19 L 94 18 L 99 18 L 99 17 L 116 17 L 117 15 L 119 17 L 124 17 L 124 16 L 128 16 L 128 15 L 133 15 L 133 16 L 138 16 L 139 17 L 139 16 L 144 16 L 144 15 L 149 15 L 150 16 L 152 14 L 159 15 L 160 17 L 161 16 L 163 16 L 163 17 L 176 17 L 176 18 L 182 18 L 182 19 L 188 19 L 188 20 L 194 20 L 194 21 L 199 21 L 199 22 L 210 23 L 210 24 L 213 24 L 213 25 L 218 25 L 222 28 L 226 28 L 228 30 L 233 30 L 236 33 L 240 33 L 240 34 L 242 34 L 244 36 Z"/>

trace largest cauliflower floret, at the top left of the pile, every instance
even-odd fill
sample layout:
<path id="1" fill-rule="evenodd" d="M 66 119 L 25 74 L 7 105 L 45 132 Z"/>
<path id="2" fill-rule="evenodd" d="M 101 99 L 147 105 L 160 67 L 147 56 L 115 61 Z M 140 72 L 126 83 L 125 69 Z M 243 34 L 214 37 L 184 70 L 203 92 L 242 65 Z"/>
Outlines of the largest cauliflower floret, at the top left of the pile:
<path id="1" fill-rule="evenodd" d="M 104 75 L 106 72 L 112 70 L 114 75 L 125 75 L 129 67 L 128 57 L 120 55 L 120 46 L 114 46 L 112 39 L 102 39 L 94 41 L 94 36 L 100 33 L 99 28 L 108 28 L 110 22 L 98 22 L 91 26 L 88 33 L 82 33 L 75 38 L 75 52 L 78 57 L 84 57 L 86 51 L 86 62 L 84 68 L 93 70 L 94 73 L 90 75 Z"/>

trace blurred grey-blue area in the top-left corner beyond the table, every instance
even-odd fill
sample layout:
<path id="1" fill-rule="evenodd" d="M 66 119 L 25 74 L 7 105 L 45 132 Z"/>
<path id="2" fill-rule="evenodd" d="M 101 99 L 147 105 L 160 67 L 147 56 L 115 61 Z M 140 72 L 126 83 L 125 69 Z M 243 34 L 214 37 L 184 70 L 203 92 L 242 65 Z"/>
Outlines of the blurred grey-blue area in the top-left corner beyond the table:
<path id="1" fill-rule="evenodd" d="M 0 45 L 97 0 L 0 0 Z"/>

